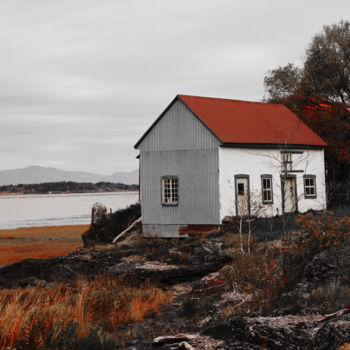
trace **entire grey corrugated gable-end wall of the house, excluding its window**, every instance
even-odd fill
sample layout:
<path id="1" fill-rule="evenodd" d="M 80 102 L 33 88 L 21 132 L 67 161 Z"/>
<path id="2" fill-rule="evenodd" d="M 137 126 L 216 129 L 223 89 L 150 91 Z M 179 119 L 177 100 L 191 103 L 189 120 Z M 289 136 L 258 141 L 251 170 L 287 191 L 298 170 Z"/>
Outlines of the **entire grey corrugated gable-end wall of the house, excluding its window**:
<path id="1" fill-rule="evenodd" d="M 219 142 L 177 101 L 139 146 L 144 224 L 220 224 Z M 179 177 L 179 205 L 162 206 L 161 177 Z"/>

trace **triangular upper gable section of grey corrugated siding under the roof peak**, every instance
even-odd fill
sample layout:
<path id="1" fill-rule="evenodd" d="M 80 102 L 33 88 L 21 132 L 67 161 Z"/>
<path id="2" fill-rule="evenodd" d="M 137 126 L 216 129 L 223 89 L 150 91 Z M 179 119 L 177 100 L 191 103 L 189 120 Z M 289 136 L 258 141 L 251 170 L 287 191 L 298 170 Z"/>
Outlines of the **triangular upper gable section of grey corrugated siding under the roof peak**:
<path id="1" fill-rule="evenodd" d="M 176 101 L 139 145 L 140 151 L 217 148 L 218 140 L 181 102 Z"/>

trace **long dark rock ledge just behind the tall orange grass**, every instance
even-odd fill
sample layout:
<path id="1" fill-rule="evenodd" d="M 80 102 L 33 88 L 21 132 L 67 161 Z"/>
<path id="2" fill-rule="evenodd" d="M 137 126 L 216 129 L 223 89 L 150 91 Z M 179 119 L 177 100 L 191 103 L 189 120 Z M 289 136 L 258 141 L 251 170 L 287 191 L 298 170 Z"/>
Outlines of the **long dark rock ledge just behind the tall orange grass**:
<path id="1" fill-rule="evenodd" d="M 208 263 L 168 265 L 159 261 L 145 261 L 135 251 L 101 251 L 82 256 L 62 256 L 53 259 L 26 259 L 0 268 L 0 287 L 17 288 L 37 285 L 39 281 L 72 281 L 81 276 L 93 278 L 110 273 L 113 276 L 129 274 L 132 278 L 172 285 L 191 281 L 208 272 L 217 271 L 226 259 Z"/>

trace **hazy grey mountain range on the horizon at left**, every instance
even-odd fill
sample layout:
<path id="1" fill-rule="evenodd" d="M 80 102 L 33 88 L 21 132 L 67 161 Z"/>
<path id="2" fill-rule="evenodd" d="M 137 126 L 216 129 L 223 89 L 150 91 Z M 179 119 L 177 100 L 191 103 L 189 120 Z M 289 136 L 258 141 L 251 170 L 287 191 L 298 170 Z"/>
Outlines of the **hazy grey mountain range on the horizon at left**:
<path id="1" fill-rule="evenodd" d="M 41 166 L 29 166 L 23 169 L 0 171 L 0 186 L 18 184 L 38 184 L 43 182 L 121 182 L 127 185 L 139 183 L 139 172 L 117 172 L 112 175 L 98 175 L 85 172 L 72 172 L 56 168 L 44 168 Z"/>

